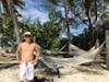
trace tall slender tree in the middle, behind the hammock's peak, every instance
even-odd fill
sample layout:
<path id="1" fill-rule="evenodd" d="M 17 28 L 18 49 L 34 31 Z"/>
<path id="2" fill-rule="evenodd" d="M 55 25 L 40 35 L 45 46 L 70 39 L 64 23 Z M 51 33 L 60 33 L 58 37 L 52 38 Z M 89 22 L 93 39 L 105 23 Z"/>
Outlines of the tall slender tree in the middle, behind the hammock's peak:
<path id="1" fill-rule="evenodd" d="M 70 37 L 70 24 L 69 24 L 69 8 L 68 8 L 68 1 L 66 0 L 47 0 L 48 2 L 50 2 L 51 4 L 56 5 L 56 7 L 61 7 L 64 9 L 64 16 L 61 16 L 61 19 L 63 20 L 63 24 L 65 24 L 65 28 L 66 28 L 66 34 L 68 34 L 68 43 L 69 46 L 71 44 L 71 37 Z M 70 50 L 70 49 L 69 49 Z M 68 51 L 69 54 L 69 51 Z"/>

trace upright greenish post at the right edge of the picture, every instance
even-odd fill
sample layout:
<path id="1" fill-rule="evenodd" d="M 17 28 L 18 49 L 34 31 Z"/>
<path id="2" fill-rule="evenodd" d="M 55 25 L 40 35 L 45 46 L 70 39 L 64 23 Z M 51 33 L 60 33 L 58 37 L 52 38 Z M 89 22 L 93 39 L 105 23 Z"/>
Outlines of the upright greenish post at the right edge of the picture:
<path id="1" fill-rule="evenodd" d="M 107 63 L 107 69 L 109 70 L 109 30 L 106 30 L 106 63 Z"/>

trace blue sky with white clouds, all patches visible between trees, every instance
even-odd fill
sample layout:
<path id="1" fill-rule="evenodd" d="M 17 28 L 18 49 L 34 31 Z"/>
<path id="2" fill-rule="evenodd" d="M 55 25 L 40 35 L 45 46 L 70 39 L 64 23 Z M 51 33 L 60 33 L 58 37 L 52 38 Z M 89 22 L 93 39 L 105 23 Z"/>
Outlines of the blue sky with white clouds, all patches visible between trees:
<path id="1" fill-rule="evenodd" d="M 31 17 L 32 21 L 35 21 L 36 19 L 39 19 L 43 23 L 48 21 L 48 11 L 46 10 L 46 7 L 43 7 L 43 3 L 45 0 L 24 0 L 25 7 L 24 9 L 17 9 L 17 11 L 24 16 L 24 17 Z M 63 9 L 59 9 L 63 12 Z M 22 20 L 22 19 L 20 19 Z M 73 35 L 81 34 L 84 30 L 84 25 L 81 25 L 80 28 L 72 28 L 71 33 Z"/>

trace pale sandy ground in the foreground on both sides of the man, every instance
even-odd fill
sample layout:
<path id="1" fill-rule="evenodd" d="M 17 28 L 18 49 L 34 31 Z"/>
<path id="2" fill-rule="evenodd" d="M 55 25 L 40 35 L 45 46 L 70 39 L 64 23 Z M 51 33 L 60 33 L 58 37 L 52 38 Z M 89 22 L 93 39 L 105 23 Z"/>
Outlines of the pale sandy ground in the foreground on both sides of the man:
<path id="1" fill-rule="evenodd" d="M 35 73 L 38 78 L 53 79 L 53 82 L 109 82 L 109 71 L 104 69 L 76 68 L 70 71 L 63 69 L 63 71 L 60 79 L 57 75 L 47 77 L 39 69 L 36 69 Z M 0 82 L 19 82 L 19 67 L 0 69 Z"/>

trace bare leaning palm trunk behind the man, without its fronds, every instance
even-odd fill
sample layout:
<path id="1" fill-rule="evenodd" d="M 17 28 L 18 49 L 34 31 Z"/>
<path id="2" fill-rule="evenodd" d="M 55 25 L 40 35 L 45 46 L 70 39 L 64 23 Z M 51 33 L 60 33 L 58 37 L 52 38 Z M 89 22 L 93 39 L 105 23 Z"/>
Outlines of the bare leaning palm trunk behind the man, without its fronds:
<path id="1" fill-rule="evenodd" d="M 19 30 L 19 25 L 17 25 L 17 17 L 16 17 L 16 14 L 15 14 L 15 11 L 14 11 L 14 4 L 13 4 L 13 0 L 7 0 L 7 3 L 8 3 L 8 9 L 9 9 L 9 12 L 10 12 L 10 16 L 11 16 L 11 20 L 13 22 L 13 26 L 14 26 L 14 33 L 16 35 L 16 43 L 20 44 L 21 39 L 20 39 L 20 30 Z"/>

